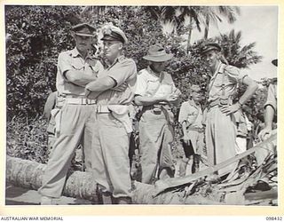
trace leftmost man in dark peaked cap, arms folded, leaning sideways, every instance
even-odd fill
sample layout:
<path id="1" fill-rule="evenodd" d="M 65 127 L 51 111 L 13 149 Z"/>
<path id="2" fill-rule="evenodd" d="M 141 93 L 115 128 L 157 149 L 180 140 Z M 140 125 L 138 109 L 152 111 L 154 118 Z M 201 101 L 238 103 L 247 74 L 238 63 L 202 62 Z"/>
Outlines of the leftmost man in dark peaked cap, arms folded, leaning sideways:
<path id="1" fill-rule="evenodd" d="M 52 155 L 43 174 L 41 204 L 55 204 L 67 178 L 67 170 L 78 144 L 83 141 L 86 170 L 90 169 L 91 131 L 86 125 L 95 99 L 87 99 L 85 85 L 98 78 L 104 67 L 89 53 L 95 28 L 87 23 L 72 28 L 75 48 L 59 53 L 56 87 L 57 105 L 51 114 L 55 119 L 56 139 Z"/>

